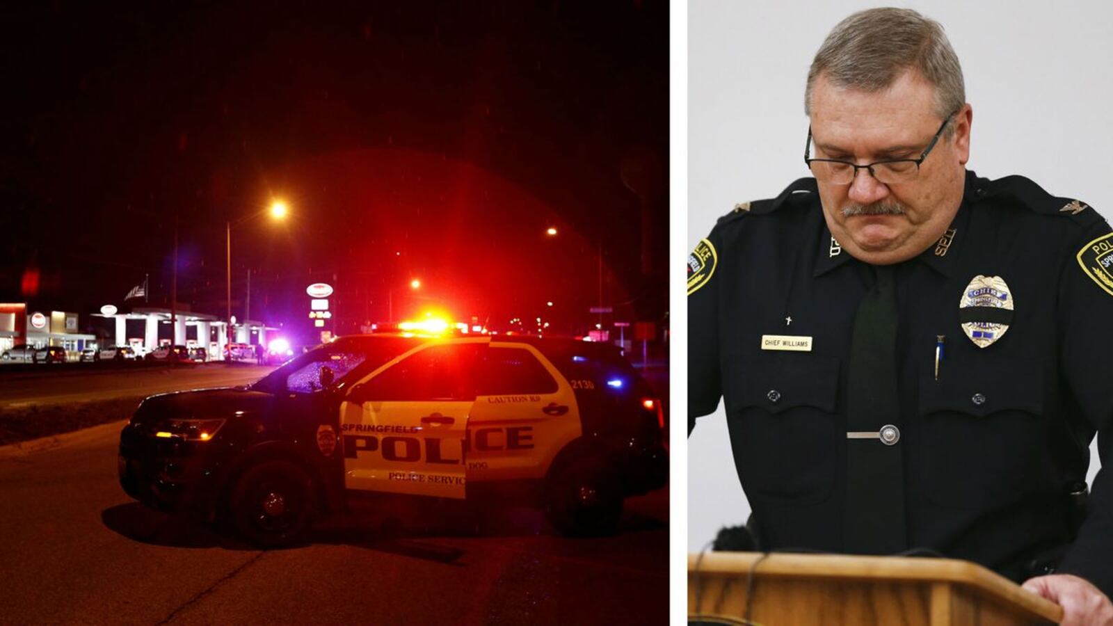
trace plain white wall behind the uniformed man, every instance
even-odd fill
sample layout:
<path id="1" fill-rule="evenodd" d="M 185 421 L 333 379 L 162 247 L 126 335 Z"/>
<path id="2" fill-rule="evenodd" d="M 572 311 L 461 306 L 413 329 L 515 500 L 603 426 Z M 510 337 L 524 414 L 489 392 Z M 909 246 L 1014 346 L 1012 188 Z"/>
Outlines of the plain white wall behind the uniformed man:
<path id="1" fill-rule="evenodd" d="M 735 203 L 807 176 L 804 82 L 824 37 L 876 2 L 690 0 L 689 250 Z M 974 107 L 979 176 L 1022 174 L 1113 217 L 1113 9 L 1105 2 L 896 2 L 943 23 Z M 688 547 L 749 505 L 719 412 L 688 441 Z M 1096 452 L 1091 481 L 1096 471 Z"/>

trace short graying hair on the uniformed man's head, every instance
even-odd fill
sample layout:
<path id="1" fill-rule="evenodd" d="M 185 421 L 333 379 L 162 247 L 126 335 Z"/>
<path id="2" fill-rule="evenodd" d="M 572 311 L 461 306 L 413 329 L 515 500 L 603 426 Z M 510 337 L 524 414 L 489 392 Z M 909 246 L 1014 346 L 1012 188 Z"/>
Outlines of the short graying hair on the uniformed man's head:
<path id="1" fill-rule="evenodd" d="M 819 75 L 837 87 L 876 92 L 907 69 L 919 71 L 935 87 L 940 118 L 966 104 L 963 68 L 939 22 L 912 9 L 858 11 L 840 21 L 816 52 L 808 70 L 804 113 L 811 114 L 811 86 Z"/>

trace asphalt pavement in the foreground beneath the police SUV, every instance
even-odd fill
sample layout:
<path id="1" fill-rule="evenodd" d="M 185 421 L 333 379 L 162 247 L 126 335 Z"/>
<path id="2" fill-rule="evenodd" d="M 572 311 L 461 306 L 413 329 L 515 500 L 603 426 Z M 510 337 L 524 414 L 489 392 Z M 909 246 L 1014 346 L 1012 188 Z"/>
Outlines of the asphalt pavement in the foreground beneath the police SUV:
<path id="1" fill-rule="evenodd" d="M 530 509 L 334 519 L 259 551 L 131 501 L 122 422 L 56 449 L 0 450 L 0 623 L 666 624 L 668 493 L 613 537 L 556 537 Z"/>

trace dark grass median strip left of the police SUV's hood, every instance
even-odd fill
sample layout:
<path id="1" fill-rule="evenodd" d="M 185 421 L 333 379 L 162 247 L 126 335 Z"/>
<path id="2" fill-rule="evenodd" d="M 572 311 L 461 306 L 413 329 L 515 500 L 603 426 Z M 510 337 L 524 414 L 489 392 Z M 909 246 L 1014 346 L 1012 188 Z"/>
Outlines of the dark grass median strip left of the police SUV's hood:
<path id="1" fill-rule="evenodd" d="M 128 419 L 144 398 L 0 409 L 0 446 Z"/>

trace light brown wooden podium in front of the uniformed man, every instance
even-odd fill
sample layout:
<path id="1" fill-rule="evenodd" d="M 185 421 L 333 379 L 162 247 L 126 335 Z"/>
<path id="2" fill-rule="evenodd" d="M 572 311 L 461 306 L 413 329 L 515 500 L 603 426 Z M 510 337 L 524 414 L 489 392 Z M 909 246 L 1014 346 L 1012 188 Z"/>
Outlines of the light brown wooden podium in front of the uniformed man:
<path id="1" fill-rule="evenodd" d="M 762 556 L 689 555 L 689 624 L 1013 626 L 1063 618 L 1058 605 L 968 561 Z M 743 619 L 748 601 L 749 623 Z"/>

